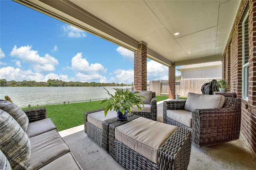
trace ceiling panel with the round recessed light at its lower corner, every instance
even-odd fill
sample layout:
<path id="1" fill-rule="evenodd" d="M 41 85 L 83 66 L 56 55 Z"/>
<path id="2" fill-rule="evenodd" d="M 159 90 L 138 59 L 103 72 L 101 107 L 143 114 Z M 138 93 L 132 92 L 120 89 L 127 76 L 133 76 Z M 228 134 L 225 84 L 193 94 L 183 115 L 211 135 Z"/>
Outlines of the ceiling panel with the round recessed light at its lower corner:
<path id="1" fill-rule="evenodd" d="M 166 29 L 173 35 L 189 35 L 218 23 L 218 1 L 146 1 Z"/>

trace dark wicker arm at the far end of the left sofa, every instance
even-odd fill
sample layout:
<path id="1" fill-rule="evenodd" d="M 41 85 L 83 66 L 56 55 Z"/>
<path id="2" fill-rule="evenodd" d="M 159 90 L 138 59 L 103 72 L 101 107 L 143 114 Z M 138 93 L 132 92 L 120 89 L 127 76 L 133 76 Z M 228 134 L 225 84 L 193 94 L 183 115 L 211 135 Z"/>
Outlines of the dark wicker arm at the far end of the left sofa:
<path id="1" fill-rule="evenodd" d="M 27 109 L 24 110 L 24 112 L 28 116 L 28 120 L 30 123 L 47 118 L 47 112 L 45 107 Z"/>

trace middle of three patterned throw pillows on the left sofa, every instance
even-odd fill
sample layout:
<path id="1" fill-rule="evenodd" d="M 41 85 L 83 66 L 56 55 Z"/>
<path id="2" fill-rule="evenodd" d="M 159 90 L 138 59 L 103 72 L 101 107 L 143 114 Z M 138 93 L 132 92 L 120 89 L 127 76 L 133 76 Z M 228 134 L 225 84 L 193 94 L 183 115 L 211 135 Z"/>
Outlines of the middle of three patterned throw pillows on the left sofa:
<path id="1" fill-rule="evenodd" d="M 0 110 L 0 120 L 0 149 L 13 170 L 25 170 L 30 161 L 30 139 L 17 121 L 3 110 Z"/>

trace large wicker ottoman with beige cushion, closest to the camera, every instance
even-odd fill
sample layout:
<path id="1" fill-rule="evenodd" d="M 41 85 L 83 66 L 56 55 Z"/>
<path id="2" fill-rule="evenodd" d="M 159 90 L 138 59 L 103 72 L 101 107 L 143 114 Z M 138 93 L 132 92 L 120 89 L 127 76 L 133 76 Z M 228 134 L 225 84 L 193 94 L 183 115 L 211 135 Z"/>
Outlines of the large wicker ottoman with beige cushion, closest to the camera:
<path id="1" fill-rule="evenodd" d="M 109 125 L 109 152 L 126 169 L 185 170 L 191 131 L 139 117 Z"/>

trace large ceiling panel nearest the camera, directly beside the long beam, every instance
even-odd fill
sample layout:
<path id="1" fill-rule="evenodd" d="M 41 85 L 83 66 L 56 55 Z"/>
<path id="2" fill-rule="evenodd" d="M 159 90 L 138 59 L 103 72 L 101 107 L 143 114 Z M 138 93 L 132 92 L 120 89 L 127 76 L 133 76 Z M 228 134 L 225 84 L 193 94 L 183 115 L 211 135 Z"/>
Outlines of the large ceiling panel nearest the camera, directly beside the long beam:
<path id="1" fill-rule="evenodd" d="M 72 2 L 134 39 L 164 27 L 141 0 L 72 0 Z"/>

